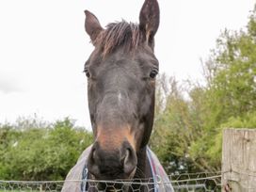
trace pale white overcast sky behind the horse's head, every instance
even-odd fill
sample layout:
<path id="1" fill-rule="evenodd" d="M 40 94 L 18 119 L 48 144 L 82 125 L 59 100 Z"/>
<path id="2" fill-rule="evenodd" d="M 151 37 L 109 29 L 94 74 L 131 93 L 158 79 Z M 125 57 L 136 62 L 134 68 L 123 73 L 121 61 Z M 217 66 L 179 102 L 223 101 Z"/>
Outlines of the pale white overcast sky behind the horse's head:
<path id="1" fill-rule="evenodd" d="M 36 113 L 44 120 L 71 117 L 90 127 L 82 72 L 93 47 L 84 31 L 84 9 L 101 24 L 138 22 L 143 0 L 1 0 L 0 123 Z M 155 53 L 160 72 L 200 79 L 225 28 L 248 23 L 255 0 L 159 0 L 161 23 Z"/>

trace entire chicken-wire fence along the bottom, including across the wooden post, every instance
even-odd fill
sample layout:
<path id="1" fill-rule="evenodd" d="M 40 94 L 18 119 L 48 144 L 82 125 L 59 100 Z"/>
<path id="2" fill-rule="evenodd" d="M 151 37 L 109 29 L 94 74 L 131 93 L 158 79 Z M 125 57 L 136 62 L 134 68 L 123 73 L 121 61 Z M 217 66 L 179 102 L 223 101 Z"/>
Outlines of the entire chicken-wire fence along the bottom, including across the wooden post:
<path id="1" fill-rule="evenodd" d="M 232 176 L 231 176 L 232 175 Z M 229 177 L 227 184 L 222 184 L 222 177 Z M 167 188 L 172 185 L 175 192 L 255 192 L 256 184 L 244 184 L 241 179 L 247 177 L 248 181 L 256 180 L 256 174 L 251 172 L 238 172 L 235 170 L 225 172 L 200 172 L 170 175 L 170 183 L 160 178 L 136 179 L 133 181 L 96 181 L 72 180 L 68 183 L 87 183 L 88 191 L 154 191 L 156 188 Z M 64 181 L 1 181 L 0 192 L 60 192 Z M 239 189 L 237 189 L 239 185 Z M 234 187 L 235 186 L 235 187 Z M 168 191 L 168 190 L 166 190 Z"/>

